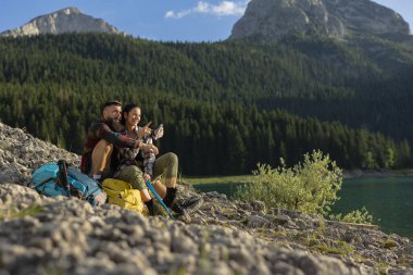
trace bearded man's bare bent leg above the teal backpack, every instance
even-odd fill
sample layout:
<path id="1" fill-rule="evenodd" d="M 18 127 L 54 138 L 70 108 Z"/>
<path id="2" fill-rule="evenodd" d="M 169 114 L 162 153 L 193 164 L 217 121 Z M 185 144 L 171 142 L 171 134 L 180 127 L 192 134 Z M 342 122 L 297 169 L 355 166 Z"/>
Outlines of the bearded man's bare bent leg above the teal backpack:
<path id="1" fill-rule="evenodd" d="M 93 179 L 101 180 L 102 174 L 109 172 L 111 166 L 111 155 L 113 145 L 101 139 L 91 153 L 91 176 Z"/>

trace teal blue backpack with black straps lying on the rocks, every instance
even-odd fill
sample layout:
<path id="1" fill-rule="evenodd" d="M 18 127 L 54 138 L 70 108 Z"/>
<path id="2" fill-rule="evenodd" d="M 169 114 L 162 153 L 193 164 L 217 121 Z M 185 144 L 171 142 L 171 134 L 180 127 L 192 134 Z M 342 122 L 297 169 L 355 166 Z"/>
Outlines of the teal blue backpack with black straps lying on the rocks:
<path id="1" fill-rule="evenodd" d="M 103 202 L 105 200 L 105 193 L 96 180 L 75 167 L 67 167 L 64 160 L 42 165 L 33 173 L 32 182 L 36 191 L 49 197 L 77 197 L 89 201 L 92 205 L 100 204 L 102 197 L 104 197 Z"/>

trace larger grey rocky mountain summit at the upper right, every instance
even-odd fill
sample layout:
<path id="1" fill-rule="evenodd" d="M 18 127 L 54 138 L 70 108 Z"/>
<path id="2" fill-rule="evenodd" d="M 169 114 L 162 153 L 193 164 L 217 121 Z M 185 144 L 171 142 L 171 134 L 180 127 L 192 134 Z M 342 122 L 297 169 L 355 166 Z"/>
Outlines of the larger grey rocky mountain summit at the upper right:
<path id="1" fill-rule="evenodd" d="M 395 11 L 371 0 L 252 0 L 230 39 L 277 40 L 289 34 L 343 38 L 352 33 L 409 35 Z"/>

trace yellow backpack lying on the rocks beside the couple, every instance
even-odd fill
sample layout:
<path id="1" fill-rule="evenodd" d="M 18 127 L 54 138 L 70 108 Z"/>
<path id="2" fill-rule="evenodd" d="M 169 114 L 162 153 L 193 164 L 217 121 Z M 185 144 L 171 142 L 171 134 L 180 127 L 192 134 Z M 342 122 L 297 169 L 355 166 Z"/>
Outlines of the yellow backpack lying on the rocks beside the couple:
<path id="1" fill-rule="evenodd" d="M 103 191 L 108 195 L 109 203 L 116 204 L 124 209 L 137 211 L 142 214 L 148 214 L 138 189 L 134 189 L 132 185 L 126 182 L 107 178 L 102 184 Z"/>

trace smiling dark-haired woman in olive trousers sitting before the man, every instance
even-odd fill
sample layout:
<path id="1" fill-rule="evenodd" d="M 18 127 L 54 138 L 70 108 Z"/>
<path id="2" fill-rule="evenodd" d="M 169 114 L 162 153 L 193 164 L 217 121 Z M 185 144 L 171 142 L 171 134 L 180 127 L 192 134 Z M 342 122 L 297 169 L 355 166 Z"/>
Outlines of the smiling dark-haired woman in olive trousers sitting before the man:
<path id="1" fill-rule="evenodd" d="M 152 135 L 152 130 L 149 125 L 145 127 L 139 127 L 141 111 L 136 104 L 128 104 L 122 111 L 122 124 L 125 127 L 124 135 L 127 135 L 134 139 L 140 139 L 141 142 L 138 148 L 122 148 L 120 166 L 115 173 L 115 177 L 121 180 L 129 183 L 134 188 L 140 190 L 143 202 L 147 204 L 151 215 L 155 214 L 155 204 L 151 198 L 149 190 L 145 184 L 145 179 L 157 179 L 159 176 L 163 176 L 165 179 L 165 185 L 162 185 L 160 180 L 155 180 L 153 187 L 158 191 L 163 202 L 177 214 L 184 213 L 184 207 L 179 205 L 176 198 L 177 190 L 177 174 L 178 174 L 178 158 L 175 153 L 165 153 L 158 158 L 152 167 L 153 175 L 143 174 L 142 164 L 138 162 L 138 157 L 140 150 L 145 152 L 146 155 L 151 153 L 158 154 L 158 148 L 153 145 L 146 143 L 146 136 Z M 157 137 L 163 136 L 163 129 L 161 129 Z M 152 136 L 153 137 L 153 136 Z M 186 205 L 187 207 L 187 205 Z"/>

